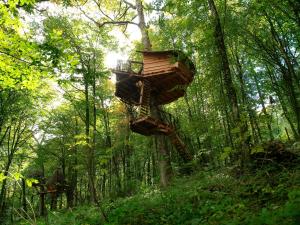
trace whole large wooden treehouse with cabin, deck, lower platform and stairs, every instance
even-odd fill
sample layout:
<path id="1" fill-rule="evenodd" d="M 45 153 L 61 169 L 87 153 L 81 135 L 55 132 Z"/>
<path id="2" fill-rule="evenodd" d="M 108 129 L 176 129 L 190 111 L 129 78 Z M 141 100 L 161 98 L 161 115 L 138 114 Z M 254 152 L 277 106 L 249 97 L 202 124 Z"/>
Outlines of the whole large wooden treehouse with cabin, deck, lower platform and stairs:
<path id="1" fill-rule="evenodd" d="M 168 104 L 184 96 L 195 75 L 194 64 L 180 51 L 141 51 L 143 62 L 119 61 L 115 95 L 129 106 L 137 106 L 130 129 L 142 135 L 163 134 L 171 138 L 185 162 L 192 160 L 176 132 L 172 116 L 158 110 L 160 118 L 152 113 L 153 107 Z"/>

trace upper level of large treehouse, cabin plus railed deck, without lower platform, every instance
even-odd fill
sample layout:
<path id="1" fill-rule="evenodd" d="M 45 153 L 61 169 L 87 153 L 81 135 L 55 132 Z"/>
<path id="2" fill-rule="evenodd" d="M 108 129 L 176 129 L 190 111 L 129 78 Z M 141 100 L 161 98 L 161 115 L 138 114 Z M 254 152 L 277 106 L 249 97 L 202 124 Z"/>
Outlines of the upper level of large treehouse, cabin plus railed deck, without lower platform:
<path id="1" fill-rule="evenodd" d="M 193 63 L 179 51 L 142 51 L 143 62 L 118 62 L 115 95 L 122 101 L 140 105 L 147 80 L 152 102 L 163 105 L 185 94 L 195 74 Z M 139 82 L 141 81 L 141 82 Z"/>

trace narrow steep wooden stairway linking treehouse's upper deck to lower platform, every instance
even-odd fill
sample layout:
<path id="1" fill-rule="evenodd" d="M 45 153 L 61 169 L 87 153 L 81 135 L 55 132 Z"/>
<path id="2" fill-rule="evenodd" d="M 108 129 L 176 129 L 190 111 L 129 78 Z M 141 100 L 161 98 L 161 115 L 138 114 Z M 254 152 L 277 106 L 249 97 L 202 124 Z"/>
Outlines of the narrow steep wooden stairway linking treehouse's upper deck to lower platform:
<path id="1" fill-rule="evenodd" d="M 150 114 L 150 95 L 151 87 L 148 80 L 144 80 L 141 85 L 141 95 L 140 95 L 140 113 L 139 117 L 149 116 Z"/>

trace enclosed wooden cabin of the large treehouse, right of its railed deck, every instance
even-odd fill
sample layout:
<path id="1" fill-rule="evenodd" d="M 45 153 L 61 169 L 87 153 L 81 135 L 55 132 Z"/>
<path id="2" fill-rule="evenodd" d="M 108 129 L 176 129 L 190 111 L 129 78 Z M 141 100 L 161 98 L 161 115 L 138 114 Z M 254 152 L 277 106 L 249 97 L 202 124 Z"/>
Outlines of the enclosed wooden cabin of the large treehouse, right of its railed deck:
<path id="1" fill-rule="evenodd" d="M 144 51 L 142 76 L 151 83 L 157 105 L 177 100 L 192 82 L 195 67 L 178 51 Z"/>

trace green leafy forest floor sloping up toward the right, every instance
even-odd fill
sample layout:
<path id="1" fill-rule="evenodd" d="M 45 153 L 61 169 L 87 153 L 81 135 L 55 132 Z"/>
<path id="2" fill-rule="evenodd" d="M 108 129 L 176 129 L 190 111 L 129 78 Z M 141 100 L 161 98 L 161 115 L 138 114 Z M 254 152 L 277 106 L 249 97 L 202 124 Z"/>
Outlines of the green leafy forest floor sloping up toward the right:
<path id="1" fill-rule="evenodd" d="M 96 207 L 49 212 L 48 224 L 300 224 L 299 160 L 285 166 L 253 164 L 202 169 L 173 180 L 164 189 L 103 203 L 108 222 Z M 45 224 L 45 220 L 38 221 Z"/>

